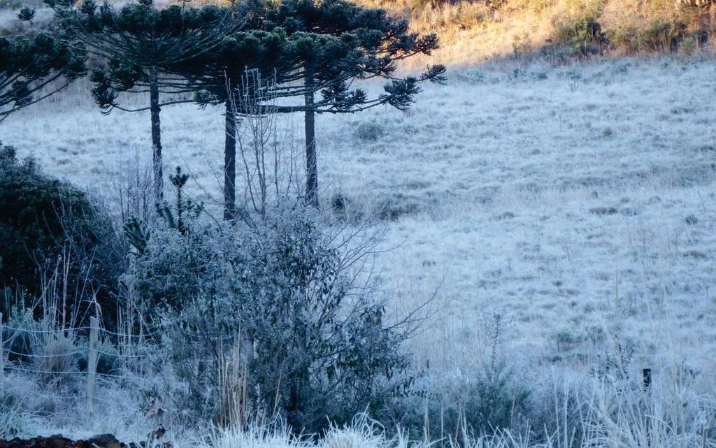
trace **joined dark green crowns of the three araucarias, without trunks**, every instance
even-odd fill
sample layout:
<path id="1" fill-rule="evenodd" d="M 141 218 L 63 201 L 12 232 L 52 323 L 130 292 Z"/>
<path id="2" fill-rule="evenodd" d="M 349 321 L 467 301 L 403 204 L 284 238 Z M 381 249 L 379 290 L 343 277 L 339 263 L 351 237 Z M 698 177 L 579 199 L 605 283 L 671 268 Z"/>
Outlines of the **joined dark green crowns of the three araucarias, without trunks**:
<path id="1" fill-rule="evenodd" d="M 265 97 L 242 91 L 247 70 L 275 84 L 274 98 L 321 92 L 311 106 L 272 107 L 276 112 L 356 112 L 377 104 L 406 109 L 420 92 L 420 82 L 440 82 L 445 72 L 437 65 L 417 77 L 396 78 L 396 62 L 430 54 L 438 47 L 437 37 L 412 33 L 407 21 L 383 9 L 345 0 L 247 0 L 231 8 L 164 9 L 150 0 L 120 9 L 92 0 L 79 8 L 47 1 L 90 51 L 107 58 L 106 67 L 92 72 L 93 94 L 105 112 L 119 107 L 118 92 L 146 89 L 147 67 L 158 69 L 163 93 L 192 93 L 202 105 L 221 104 L 235 95 Z M 304 84 L 308 74 L 310 86 Z M 355 79 L 372 77 L 390 80 L 383 94 L 369 99 L 352 87 Z M 163 104 L 187 101 L 174 96 Z"/>

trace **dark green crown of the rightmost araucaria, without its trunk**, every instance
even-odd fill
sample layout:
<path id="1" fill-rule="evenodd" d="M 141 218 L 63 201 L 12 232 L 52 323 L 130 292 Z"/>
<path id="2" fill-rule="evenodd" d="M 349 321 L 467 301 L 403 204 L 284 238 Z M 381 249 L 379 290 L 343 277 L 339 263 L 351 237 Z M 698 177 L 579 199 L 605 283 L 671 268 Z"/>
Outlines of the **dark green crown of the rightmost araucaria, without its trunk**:
<path id="1" fill-rule="evenodd" d="M 265 29 L 281 28 L 289 37 L 300 33 L 335 36 L 353 47 L 352 52 L 331 64 L 329 54 L 322 54 L 327 49 L 314 46 L 314 54 L 321 56 L 301 54 L 302 67 L 296 67 L 294 79 L 286 79 L 294 82 L 309 72 L 314 88 L 321 90 L 323 97 L 313 105 L 316 112 L 354 112 L 386 103 L 406 109 L 420 92 L 420 82 L 443 80 L 442 65 L 428 67 L 419 77 L 394 77 L 396 62 L 415 54 L 430 54 L 439 42 L 435 34 L 420 36 L 410 32 L 407 21 L 391 17 L 384 9 L 364 8 L 346 0 L 282 0 L 277 6 L 267 0 L 248 1 L 253 16 L 260 18 Z M 354 79 L 372 77 L 391 80 L 379 97 L 369 100 L 362 90 L 350 89 Z M 287 90 L 283 96 L 294 94 L 301 92 Z"/>

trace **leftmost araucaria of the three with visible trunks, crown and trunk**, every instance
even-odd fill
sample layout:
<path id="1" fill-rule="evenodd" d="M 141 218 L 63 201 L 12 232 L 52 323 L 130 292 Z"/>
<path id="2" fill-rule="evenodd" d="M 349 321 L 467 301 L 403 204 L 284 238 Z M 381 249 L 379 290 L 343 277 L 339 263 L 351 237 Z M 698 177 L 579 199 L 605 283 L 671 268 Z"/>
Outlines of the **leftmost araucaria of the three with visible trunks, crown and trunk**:
<path id="1" fill-rule="evenodd" d="M 108 114 L 112 109 L 130 112 L 150 110 L 152 124 L 155 198 L 163 195 L 160 110 L 168 104 L 189 102 L 193 93 L 185 79 L 170 72 L 179 62 L 211 51 L 223 36 L 240 25 L 229 9 L 218 6 L 192 8 L 172 5 L 157 9 L 153 0 L 139 0 L 115 8 L 84 1 L 47 0 L 69 36 L 84 43 L 89 52 L 105 59 L 95 67 L 92 94 Z M 118 92 L 149 93 L 146 107 L 127 109 L 117 102 Z M 170 94 L 160 99 L 160 94 Z"/>

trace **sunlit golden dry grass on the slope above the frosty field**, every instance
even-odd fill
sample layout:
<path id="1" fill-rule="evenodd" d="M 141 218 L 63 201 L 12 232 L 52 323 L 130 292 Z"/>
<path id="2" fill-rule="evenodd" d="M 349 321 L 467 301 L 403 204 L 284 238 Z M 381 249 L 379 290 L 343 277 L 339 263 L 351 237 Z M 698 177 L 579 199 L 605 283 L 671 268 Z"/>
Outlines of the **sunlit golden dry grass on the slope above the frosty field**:
<path id="1" fill-rule="evenodd" d="M 715 9 L 684 9 L 674 0 L 504 0 L 500 6 L 485 1 L 458 1 L 436 4 L 432 0 L 357 0 L 366 6 L 380 6 L 410 19 L 415 31 L 435 32 L 442 48 L 411 64 L 428 62 L 473 65 L 485 59 L 529 54 L 558 43 L 561 29 L 590 18 L 601 24 L 611 42 L 612 54 L 659 50 L 657 31 L 668 24 L 684 24 L 686 52 L 709 47 L 690 42 L 690 36 L 707 32 L 716 23 Z M 431 2 L 432 1 L 432 2 Z M 657 36 L 654 36 L 657 34 Z M 668 39 L 667 37 L 663 38 Z M 681 38 L 680 38 L 681 39 Z M 668 48 L 668 42 L 665 42 Z"/>

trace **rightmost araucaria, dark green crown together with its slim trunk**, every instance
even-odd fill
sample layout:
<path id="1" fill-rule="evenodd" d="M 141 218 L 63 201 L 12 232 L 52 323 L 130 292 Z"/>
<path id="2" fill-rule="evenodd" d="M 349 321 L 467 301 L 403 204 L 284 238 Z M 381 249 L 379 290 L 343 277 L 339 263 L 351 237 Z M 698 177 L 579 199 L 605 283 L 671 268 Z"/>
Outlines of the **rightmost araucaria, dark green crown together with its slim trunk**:
<path id="1" fill-rule="evenodd" d="M 257 0 L 252 4 L 254 16 L 261 17 L 267 31 L 284 30 L 291 39 L 309 34 L 313 39 L 291 54 L 284 70 L 279 97 L 304 97 L 303 107 L 279 107 L 277 112 L 304 112 L 306 137 L 306 200 L 318 207 L 318 167 L 316 155 L 316 112 L 346 113 L 390 104 L 397 109 L 410 107 L 418 84 L 423 81 L 442 82 L 445 67 L 434 65 L 418 77 L 395 77 L 396 62 L 430 54 L 437 49 L 435 34 L 420 36 L 410 31 L 408 22 L 395 19 L 384 9 L 364 8 L 346 0 Z M 335 40 L 325 39 L 331 36 Z M 342 57 L 331 53 L 335 42 L 344 48 Z M 379 77 L 389 79 L 384 93 L 369 99 L 361 89 L 351 89 L 355 79 Z M 316 93 L 321 97 L 316 99 Z"/>

